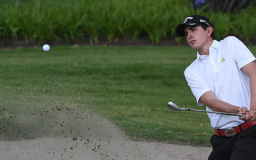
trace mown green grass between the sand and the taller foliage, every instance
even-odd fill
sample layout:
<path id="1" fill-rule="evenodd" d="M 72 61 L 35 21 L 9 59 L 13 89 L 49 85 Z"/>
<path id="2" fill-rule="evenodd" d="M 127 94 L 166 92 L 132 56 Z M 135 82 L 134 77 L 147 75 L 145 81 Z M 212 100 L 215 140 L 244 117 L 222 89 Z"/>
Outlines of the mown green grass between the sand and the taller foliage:
<path id="1" fill-rule="evenodd" d="M 207 145 L 213 130 L 205 113 L 166 107 L 172 101 L 205 109 L 183 74 L 195 57 L 189 47 L 2 49 L 1 139 L 31 138 L 28 132 L 42 132 L 54 120 L 44 111 L 76 108 L 111 120 L 134 139 Z"/>

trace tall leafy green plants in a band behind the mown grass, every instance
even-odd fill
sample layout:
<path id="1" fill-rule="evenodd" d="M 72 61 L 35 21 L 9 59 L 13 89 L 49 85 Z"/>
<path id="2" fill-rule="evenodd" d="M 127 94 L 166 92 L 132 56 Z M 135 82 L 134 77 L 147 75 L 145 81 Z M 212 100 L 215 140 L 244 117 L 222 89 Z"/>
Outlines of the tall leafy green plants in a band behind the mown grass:
<path id="1" fill-rule="evenodd" d="M 250 42 L 256 36 L 255 9 L 222 13 L 206 5 L 195 10 L 188 0 L 1 0 L 0 41 L 38 44 L 87 38 L 97 44 L 100 38 L 108 42 L 149 38 L 152 44 L 161 39 L 180 42 L 175 36 L 177 24 L 189 15 L 202 14 L 211 19 L 217 39 L 235 35 Z"/>

